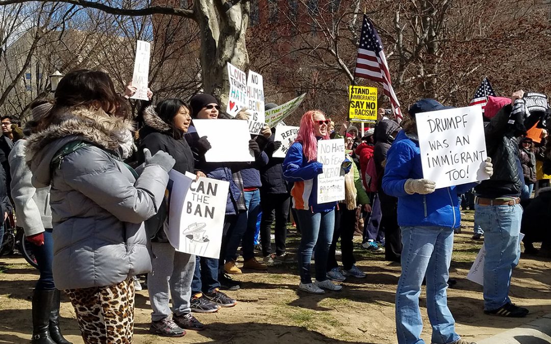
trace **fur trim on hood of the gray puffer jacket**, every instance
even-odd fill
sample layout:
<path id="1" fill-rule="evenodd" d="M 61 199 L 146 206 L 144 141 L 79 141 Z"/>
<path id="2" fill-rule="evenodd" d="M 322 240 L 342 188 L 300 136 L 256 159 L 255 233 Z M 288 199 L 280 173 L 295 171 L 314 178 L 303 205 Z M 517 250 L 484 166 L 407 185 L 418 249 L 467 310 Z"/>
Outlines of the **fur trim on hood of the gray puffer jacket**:
<path id="1" fill-rule="evenodd" d="M 27 140 L 26 162 L 33 172 L 33 184 L 50 184 L 50 162 L 64 145 L 83 140 L 108 151 L 118 152 L 126 159 L 134 149 L 133 123 L 104 111 L 88 108 L 67 110 L 57 116 L 50 127 L 31 135 Z"/>

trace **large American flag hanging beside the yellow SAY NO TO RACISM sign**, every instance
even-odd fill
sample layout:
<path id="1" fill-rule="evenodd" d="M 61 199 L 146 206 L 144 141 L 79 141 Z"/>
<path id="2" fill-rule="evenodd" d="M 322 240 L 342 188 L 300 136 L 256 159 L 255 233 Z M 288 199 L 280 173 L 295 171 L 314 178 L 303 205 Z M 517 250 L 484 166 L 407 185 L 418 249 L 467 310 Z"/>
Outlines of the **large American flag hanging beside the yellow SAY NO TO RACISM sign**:
<path id="1" fill-rule="evenodd" d="M 356 59 L 355 77 L 378 81 L 382 84 L 383 94 L 390 98 L 392 111 L 398 123 L 402 121 L 400 103 L 392 89 L 390 71 L 386 63 L 385 52 L 382 50 L 382 43 L 377 30 L 364 14 L 364 23 L 361 25 L 360 47 L 358 48 L 358 59 Z"/>

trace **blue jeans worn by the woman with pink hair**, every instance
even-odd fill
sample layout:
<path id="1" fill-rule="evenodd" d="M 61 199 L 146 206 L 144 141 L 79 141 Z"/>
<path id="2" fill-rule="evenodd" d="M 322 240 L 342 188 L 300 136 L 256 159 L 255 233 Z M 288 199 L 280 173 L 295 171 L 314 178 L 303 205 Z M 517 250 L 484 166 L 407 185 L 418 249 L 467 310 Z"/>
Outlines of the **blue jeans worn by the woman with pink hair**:
<path id="1" fill-rule="evenodd" d="M 316 280 L 327 280 L 327 255 L 333 241 L 335 226 L 335 211 L 311 212 L 310 210 L 296 210 L 300 225 L 299 244 L 299 272 L 300 282 L 312 283 L 310 276 L 310 261 L 312 250 L 316 247 Z"/>

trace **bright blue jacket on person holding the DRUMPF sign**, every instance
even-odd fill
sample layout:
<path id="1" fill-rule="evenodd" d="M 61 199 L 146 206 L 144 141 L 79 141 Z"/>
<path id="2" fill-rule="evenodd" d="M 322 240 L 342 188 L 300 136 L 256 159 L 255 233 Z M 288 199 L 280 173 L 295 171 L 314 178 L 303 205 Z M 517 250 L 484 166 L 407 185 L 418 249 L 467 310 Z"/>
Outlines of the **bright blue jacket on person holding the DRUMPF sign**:
<path id="1" fill-rule="evenodd" d="M 399 132 L 388 150 L 382 189 L 398 198 L 398 225 L 439 226 L 457 228 L 461 225 L 458 195 L 467 192 L 477 183 L 436 189 L 428 195 L 409 195 L 404 190 L 408 179 L 422 179 L 419 141 Z"/>

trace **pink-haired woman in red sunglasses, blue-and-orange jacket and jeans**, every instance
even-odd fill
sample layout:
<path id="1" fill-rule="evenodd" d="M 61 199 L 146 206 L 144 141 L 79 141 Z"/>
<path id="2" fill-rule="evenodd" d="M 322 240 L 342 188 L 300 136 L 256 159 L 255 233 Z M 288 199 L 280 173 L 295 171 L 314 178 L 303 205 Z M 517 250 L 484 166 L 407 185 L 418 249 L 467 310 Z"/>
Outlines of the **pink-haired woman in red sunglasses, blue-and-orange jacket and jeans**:
<path id="1" fill-rule="evenodd" d="M 326 275 L 327 255 L 335 222 L 334 209 L 337 203 L 317 203 L 317 175 L 323 172 L 323 165 L 316 161 L 317 141 L 329 139 L 328 126 L 329 119 L 326 119 L 320 110 L 306 112 L 300 120 L 299 134 L 283 161 L 283 177 L 294 183 L 291 196 L 302 234 L 298 253 L 299 290 L 313 294 L 325 293 L 324 289 L 342 289 L 342 286 L 329 281 Z M 349 169 L 350 161 L 345 162 L 348 162 Z M 312 283 L 310 260 L 314 247 L 316 281 Z"/>

